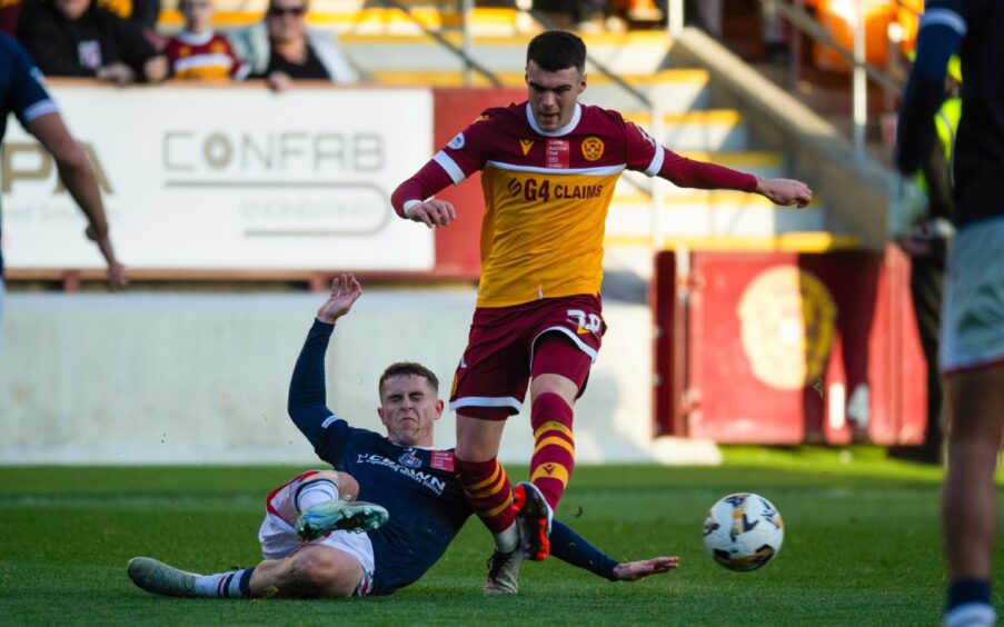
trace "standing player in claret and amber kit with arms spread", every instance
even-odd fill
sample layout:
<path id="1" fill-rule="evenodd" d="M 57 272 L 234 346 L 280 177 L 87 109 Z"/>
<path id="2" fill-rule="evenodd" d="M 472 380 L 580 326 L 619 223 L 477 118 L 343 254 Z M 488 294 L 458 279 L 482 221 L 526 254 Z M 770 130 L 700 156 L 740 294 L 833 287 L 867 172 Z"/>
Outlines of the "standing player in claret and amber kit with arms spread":
<path id="1" fill-rule="evenodd" d="M 392 196 L 401 217 L 445 227 L 457 212 L 430 197 L 481 171 L 481 280 L 450 409 L 457 411 L 458 478 L 495 537 L 493 559 L 514 569 L 520 541 L 530 559 L 547 556 L 553 511 L 573 471 L 573 407 L 606 328 L 604 226 L 620 172 L 756 192 L 786 206 L 812 199 L 799 181 L 685 159 L 618 112 L 580 104 L 585 64 L 578 37 L 535 37 L 527 101 L 486 110 Z M 497 455 L 505 420 L 519 411 L 528 382 L 536 446 L 530 482 L 513 490 Z M 517 509 L 528 521 L 525 534 L 515 524 Z"/>

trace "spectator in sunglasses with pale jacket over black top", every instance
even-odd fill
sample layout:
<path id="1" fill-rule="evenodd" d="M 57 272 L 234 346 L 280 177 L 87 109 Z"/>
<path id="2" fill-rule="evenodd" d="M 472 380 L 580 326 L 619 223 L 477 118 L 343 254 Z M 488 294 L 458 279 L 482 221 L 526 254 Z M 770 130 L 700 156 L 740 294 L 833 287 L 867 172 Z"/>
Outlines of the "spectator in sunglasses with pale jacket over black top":
<path id="1" fill-rule="evenodd" d="M 300 79 L 355 82 L 335 33 L 308 28 L 306 14 L 307 0 L 270 0 L 264 21 L 228 33 L 251 78 L 266 79 L 275 91 Z"/>

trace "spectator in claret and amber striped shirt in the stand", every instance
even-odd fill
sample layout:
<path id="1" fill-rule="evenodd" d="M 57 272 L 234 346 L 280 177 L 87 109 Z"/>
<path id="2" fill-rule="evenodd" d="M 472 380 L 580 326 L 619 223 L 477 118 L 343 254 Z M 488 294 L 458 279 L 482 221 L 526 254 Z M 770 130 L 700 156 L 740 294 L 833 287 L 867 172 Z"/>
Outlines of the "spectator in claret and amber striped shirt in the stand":
<path id="1" fill-rule="evenodd" d="M 212 0 L 181 0 L 178 8 L 185 16 L 185 30 L 170 38 L 165 49 L 175 78 L 245 78 L 248 66 L 240 62 L 226 37 L 212 31 Z"/>

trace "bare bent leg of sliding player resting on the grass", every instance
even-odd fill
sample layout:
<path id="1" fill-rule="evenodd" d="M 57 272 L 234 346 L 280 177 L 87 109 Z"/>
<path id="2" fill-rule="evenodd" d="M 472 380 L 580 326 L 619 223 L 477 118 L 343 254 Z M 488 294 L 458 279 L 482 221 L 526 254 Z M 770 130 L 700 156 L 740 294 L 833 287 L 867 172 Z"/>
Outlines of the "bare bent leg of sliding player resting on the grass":
<path id="1" fill-rule="evenodd" d="M 336 548 L 307 545 L 289 557 L 269 559 L 251 574 L 252 597 L 350 597 L 362 580 L 362 566 Z"/>

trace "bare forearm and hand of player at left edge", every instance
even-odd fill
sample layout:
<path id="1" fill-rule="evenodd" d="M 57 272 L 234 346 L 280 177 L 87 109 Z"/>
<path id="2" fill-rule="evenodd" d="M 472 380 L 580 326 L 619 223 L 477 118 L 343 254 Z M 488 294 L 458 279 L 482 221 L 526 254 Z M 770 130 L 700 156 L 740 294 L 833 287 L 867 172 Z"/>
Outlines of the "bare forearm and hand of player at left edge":
<path id="1" fill-rule="evenodd" d="M 98 188 L 98 179 L 91 168 L 87 155 L 80 145 L 70 136 L 59 113 L 52 112 L 39 116 L 27 125 L 28 132 L 48 150 L 59 168 L 59 177 L 66 183 L 67 189 L 87 216 L 88 227 L 86 235 L 95 243 L 108 263 L 108 285 L 118 290 L 129 283 L 126 276 L 126 267 L 119 263 L 108 235 L 108 219 L 105 216 L 105 205 L 101 201 L 101 191 Z"/>

